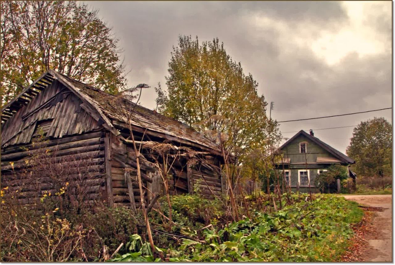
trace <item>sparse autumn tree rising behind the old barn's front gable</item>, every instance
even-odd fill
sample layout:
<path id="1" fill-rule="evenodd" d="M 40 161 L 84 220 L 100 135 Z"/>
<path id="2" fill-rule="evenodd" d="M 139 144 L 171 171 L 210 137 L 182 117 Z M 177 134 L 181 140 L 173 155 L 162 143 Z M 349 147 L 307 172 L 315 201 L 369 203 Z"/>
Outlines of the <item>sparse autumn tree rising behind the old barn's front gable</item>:
<path id="1" fill-rule="evenodd" d="M 118 40 L 73 1 L 1 1 L 0 104 L 52 68 L 110 93 L 126 85 Z"/>

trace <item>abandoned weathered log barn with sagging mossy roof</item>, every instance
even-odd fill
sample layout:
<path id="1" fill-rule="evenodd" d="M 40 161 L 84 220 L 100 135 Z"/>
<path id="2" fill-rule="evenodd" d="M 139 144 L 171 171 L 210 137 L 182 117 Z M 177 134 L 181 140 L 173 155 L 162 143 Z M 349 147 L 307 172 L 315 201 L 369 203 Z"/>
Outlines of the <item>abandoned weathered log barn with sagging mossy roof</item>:
<path id="1" fill-rule="evenodd" d="M 226 189 L 219 170 L 221 152 L 208 138 L 54 70 L 4 106 L 1 120 L 2 187 L 19 189 L 23 203 L 54 194 L 55 180 L 64 175 L 68 182 L 85 179 L 90 200 L 109 206 L 139 203 L 129 126 L 141 148 L 139 165 L 148 201 L 164 193 L 161 172 L 170 165 L 171 195 L 195 190 L 213 198 Z M 34 161 L 37 154 L 47 159 Z"/>

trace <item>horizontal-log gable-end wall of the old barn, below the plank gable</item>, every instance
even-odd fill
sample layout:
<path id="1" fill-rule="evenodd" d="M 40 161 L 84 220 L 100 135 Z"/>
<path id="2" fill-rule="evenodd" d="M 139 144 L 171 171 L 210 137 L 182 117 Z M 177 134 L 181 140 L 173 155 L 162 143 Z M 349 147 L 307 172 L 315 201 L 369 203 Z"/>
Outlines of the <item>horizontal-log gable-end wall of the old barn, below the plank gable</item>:
<path id="1" fill-rule="evenodd" d="M 47 192 L 55 195 L 59 182 L 85 185 L 87 200 L 107 200 L 105 176 L 105 132 L 95 130 L 75 136 L 2 148 L 2 186 L 20 189 L 23 204 L 34 203 Z M 60 179 L 64 178 L 64 179 Z M 80 191 L 81 192 L 81 191 Z"/>

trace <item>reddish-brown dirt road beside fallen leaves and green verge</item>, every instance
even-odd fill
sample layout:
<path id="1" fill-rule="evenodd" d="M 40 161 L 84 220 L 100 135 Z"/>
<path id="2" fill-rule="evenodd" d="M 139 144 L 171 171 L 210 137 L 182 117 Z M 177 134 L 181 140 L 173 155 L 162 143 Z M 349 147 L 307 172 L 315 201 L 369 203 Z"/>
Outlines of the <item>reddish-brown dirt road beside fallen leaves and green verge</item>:
<path id="1" fill-rule="evenodd" d="M 370 262 L 392 262 L 392 195 L 344 195 L 344 198 L 364 206 L 384 208 L 375 212 L 372 221 L 376 233 L 367 238 L 369 246 L 362 258 Z"/>

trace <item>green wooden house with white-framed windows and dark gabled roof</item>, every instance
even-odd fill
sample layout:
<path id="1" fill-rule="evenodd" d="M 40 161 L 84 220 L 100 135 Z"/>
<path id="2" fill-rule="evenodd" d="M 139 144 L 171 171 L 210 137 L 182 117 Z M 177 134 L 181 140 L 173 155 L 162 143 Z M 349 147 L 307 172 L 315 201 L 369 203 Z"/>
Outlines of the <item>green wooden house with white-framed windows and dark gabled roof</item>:
<path id="1" fill-rule="evenodd" d="M 275 167 L 284 172 L 286 184 L 292 191 L 308 192 L 309 182 L 312 191 L 316 192 L 314 179 L 318 174 L 327 170 L 332 164 L 350 166 L 355 163 L 354 159 L 344 155 L 335 148 L 325 144 L 320 139 L 301 130 L 280 146 L 279 151 L 283 158 L 276 163 Z M 350 170 L 347 170 L 350 174 Z"/>

